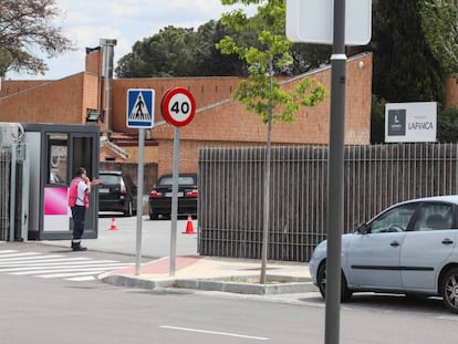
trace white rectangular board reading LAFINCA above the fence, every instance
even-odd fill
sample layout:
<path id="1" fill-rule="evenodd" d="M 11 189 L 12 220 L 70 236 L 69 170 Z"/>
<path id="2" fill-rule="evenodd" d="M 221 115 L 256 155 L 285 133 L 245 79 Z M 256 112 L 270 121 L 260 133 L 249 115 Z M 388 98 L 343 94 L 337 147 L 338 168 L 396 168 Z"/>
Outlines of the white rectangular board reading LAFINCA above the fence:
<path id="1" fill-rule="evenodd" d="M 387 103 L 385 142 L 436 142 L 437 103 Z"/>

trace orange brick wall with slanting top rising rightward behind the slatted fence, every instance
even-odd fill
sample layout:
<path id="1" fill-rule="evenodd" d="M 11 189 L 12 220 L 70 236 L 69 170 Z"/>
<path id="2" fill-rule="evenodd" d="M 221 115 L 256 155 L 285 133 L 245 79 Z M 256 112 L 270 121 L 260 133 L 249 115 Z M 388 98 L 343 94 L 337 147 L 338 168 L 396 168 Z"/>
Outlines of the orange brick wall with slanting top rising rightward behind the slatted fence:
<path id="1" fill-rule="evenodd" d="M 364 65 L 361 66 L 360 62 Z M 345 144 L 367 145 L 371 132 L 372 54 L 351 60 L 346 74 Z M 331 88 L 331 69 L 310 75 Z M 294 83 L 284 84 L 291 88 Z M 330 91 L 322 104 L 303 108 L 293 123 L 277 123 L 272 128 L 273 144 L 303 145 L 329 143 Z M 153 138 L 159 140 L 158 173 L 171 171 L 174 126 L 163 123 L 153 128 Z M 267 140 L 267 125 L 248 113 L 238 102 L 214 108 L 198 106 L 196 117 L 180 128 L 180 171 L 197 170 L 197 155 L 204 145 L 262 146 Z"/>

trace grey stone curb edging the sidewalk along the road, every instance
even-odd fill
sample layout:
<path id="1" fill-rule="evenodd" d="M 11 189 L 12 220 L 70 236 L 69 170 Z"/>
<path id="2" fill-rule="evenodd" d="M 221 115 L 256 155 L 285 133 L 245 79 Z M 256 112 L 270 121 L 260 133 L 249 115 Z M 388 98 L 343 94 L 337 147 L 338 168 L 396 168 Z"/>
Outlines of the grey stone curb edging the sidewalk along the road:
<path id="1" fill-rule="evenodd" d="M 232 278 L 233 279 L 233 278 Z M 247 277 L 243 277 L 247 279 Z M 155 290 L 160 288 L 179 288 L 201 291 L 219 291 L 237 294 L 274 295 L 290 293 L 305 293 L 318 291 L 316 286 L 308 279 L 282 278 L 281 283 L 240 283 L 235 281 L 221 281 L 211 279 L 165 279 L 148 280 L 129 275 L 102 275 L 100 280 L 107 284 L 128 288 Z M 275 278 L 279 281 L 279 278 Z"/>

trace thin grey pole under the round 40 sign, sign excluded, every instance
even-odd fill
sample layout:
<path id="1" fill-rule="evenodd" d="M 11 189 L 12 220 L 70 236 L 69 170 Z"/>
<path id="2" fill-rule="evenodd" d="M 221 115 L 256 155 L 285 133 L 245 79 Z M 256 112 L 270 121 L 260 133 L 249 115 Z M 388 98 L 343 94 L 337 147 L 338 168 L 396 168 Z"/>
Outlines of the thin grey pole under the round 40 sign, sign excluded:
<path id="1" fill-rule="evenodd" d="M 175 275 L 177 256 L 177 213 L 178 213 L 178 165 L 179 165 L 179 127 L 175 127 L 174 135 L 174 169 L 171 185 L 171 225 L 170 225 L 170 268 L 169 275 Z"/>

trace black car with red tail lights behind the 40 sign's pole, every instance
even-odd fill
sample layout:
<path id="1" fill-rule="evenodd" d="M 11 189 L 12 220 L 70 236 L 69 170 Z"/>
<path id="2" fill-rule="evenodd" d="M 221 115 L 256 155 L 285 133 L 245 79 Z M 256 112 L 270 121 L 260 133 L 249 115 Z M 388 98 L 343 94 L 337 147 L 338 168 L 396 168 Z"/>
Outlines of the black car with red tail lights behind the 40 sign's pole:
<path id="1" fill-rule="evenodd" d="M 149 219 L 171 215 L 173 175 L 160 176 L 149 194 Z M 179 174 L 178 176 L 178 216 L 197 216 L 197 175 Z"/>

